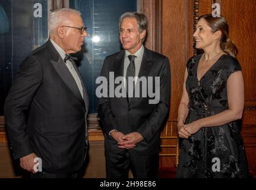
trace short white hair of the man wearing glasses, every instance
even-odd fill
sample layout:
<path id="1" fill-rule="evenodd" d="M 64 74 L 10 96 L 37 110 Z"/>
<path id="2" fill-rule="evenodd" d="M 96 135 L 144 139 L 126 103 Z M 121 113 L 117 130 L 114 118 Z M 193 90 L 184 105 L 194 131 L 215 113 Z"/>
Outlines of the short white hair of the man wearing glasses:
<path id="1" fill-rule="evenodd" d="M 68 23 L 68 17 L 70 13 L 81 15 L 80 11 L 71 8 L 61 8 L 53 11 L 48 18 L 48 31 L 49 34 L 54 33 L 58 26 L 64 23 Z"/>

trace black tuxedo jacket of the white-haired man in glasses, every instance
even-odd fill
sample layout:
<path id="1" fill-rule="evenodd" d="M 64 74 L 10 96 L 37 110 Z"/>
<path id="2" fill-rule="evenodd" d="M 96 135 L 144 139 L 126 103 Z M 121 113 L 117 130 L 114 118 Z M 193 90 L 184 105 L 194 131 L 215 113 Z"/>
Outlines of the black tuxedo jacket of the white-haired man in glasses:
<path id="1" fill-rule="evenodd" d="M 89 102 L 83 89 L 84 99 L 49 40 L 23 61 L 5 101 L 14 159 L 36 153 L 45 172 L 80 169 L 88 147 Z"/>

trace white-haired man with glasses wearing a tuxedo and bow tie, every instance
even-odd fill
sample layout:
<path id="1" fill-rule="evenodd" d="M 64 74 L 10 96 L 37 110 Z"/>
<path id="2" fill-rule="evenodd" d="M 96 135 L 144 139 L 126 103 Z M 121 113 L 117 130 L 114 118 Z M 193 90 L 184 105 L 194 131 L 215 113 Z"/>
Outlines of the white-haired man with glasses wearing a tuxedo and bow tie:
<path id="1" fill-rule="evenodd" d="M 58 9 L 48 30 L 48 42 L 20 65 L 5 101 L 5 122 L 12 155 L 32 178 L 76 178 L 89 146 L 89 100 L 69 53 L 81 50 L 86 27 L 79 11 Z"/>

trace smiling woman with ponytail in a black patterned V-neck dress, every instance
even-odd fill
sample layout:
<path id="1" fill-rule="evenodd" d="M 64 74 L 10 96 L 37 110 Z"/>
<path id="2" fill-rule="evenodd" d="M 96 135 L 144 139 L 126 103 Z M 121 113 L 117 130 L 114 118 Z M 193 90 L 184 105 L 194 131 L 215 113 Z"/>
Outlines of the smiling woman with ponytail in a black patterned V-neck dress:
<path id="1" fill-rule="evenodd" d="M 176 178 L 247 178 L 238 119 L 244 80 L 224 17 L 199 18 L 194 38 L 203 55 L 189 59 L 178 109 L 181 153 Z"/>

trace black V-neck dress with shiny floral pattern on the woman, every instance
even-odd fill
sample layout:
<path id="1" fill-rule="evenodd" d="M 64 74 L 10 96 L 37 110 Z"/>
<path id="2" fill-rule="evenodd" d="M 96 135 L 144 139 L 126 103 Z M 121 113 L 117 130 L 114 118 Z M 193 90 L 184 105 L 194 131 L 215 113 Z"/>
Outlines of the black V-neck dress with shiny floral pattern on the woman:
<path id="1" fill-rule="evenodd" d="M 227 78 L 241 66 L 222 55 L 200 81 L 197 68 L 202 55 L 189 59 L 186 88 L 189 112 L 185 124 L 227 110 Z M 181 152 L 176 178 L 247 178 L 244 143 L 239 121 L 201 128 L 188 139 L 180 138 Z"/>

